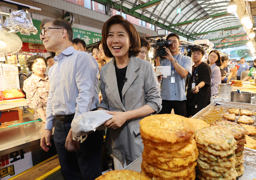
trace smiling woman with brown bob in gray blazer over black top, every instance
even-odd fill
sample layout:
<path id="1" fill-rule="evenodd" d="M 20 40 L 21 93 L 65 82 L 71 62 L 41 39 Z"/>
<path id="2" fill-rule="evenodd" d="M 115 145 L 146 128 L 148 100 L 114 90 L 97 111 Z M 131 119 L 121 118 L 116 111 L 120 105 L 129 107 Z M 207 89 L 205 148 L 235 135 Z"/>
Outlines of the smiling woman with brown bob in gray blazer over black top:
<path id="1" fill-rule="evenodd" d="M 140 38 L 135 27 L 121 15 L 112 16 L 102 29 L 102 46 L 112 61 L 101 69 L 103 100 L 98 109 L 113 115 L 105 126 L 106 147 L 114 155 L 115 170 L 142 155 L 139 121 L 161 110 L 159 83 L 153 66 L 140 58 Z"/>

